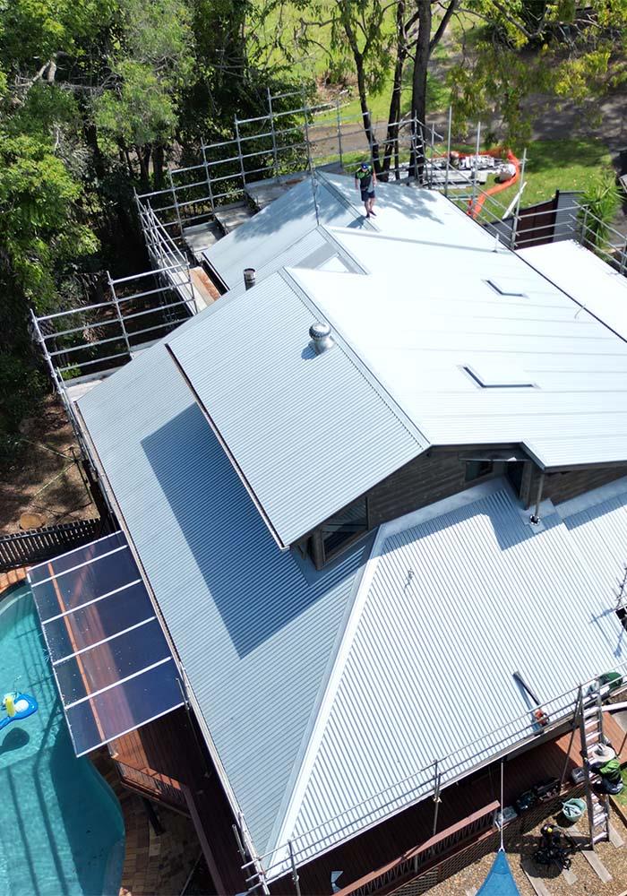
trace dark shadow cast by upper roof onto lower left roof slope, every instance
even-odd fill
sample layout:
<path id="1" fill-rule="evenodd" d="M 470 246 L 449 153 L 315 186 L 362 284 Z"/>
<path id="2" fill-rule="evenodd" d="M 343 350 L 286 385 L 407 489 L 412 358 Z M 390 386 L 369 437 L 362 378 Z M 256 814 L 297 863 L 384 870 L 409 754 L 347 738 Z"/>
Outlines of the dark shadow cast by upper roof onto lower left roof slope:
<path id="1" fill-rule="evenodd" d="M 190 625 L 210 624 L 213 603 L 241 658 L 319 601 L 323 609 L 338 590 L 349 598 L 369 545 L 356 545 L 321 572 L 305 561 L 305 573 L 303 562 L 279 550 L 195 404 L 142 447 L 197 566 L 197 572 L 185 568 L 189 560 L 181 554 Z"/>

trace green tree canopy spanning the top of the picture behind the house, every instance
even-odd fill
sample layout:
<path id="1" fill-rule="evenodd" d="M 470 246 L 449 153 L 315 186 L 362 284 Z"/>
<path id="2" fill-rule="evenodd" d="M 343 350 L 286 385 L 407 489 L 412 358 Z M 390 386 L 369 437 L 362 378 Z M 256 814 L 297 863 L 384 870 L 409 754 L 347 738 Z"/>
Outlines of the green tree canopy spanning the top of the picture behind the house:
<path id="1" fill-rule="evenodd" d="M 30 308 L 140 268 L 133 187 L 159 187 L 235 114 L 265 111 L 268 86 L 300 89 L 313 47 L 331 79 L 354 77 L 387 169 L 402 117 L 425 120 L 452 29 L 456 116 L 501 116 L 507 138 L 528 130 L 532 91 L 585 103 L 623 82 L 626 23 L 627 0 L 0 0 L 0 436 L 42 383 Z M 377 134 L 371 98 L 388 85 Z"/>

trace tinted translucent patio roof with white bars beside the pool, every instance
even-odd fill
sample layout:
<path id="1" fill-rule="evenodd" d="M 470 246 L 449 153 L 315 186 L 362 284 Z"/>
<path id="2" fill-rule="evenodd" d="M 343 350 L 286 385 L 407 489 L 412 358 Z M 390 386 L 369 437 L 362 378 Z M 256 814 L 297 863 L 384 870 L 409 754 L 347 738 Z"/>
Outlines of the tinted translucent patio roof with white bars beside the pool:
<path id="1" fill-rule="evenodd" d="M 123 532 L 33 566 L 29 582 L 77 756 L 184 704 Z"/>

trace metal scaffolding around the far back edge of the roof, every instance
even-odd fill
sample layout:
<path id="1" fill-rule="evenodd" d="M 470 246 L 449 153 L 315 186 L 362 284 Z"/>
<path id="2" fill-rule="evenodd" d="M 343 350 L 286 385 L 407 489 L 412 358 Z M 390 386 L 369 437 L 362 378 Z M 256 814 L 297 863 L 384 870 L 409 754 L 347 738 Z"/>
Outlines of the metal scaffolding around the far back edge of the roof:
<path id="1" fill-rule="evenodd" d="M 285 108 L 295 98 L 294 108 Z M 196 163 L 168 170 L 167 188 L 136 194 L 150 270 L 116 280 L 107 273 L 108 297 L 34 319 L 36 338 L 62 387 L 106 375 L 202 310 L 207 297 L 193 270 L 200 271 L 206 248 L 299 181 L 311 183 L 317 211 L 316 172 L 345 172 L 356 157 L 374 164 L 387 153 L 385 177 L 399 188 L 441 192 L 492 234 L 495 245 L 519 249 L 571 238 L 627 274 L 625 237 L 575 198 L 560 208 L 559 226 L 554 209 L 535 211 L 530 226 L 528 210 L 520 208 L 526 153 L 509 206 L 482 188 L 480 124 L 466 170 L 451 165 L 451 109 L 443 134 L 433 124 L 404 118 L 396 147 L 375 144 L 372 131 L 369 142 L 363 125 L 364 115 L 348 114 L 343 97 L 310 104 L 304 91 L 268 90 L 265 114 L 235 117 L 231 137 L 203 143 Z"/>

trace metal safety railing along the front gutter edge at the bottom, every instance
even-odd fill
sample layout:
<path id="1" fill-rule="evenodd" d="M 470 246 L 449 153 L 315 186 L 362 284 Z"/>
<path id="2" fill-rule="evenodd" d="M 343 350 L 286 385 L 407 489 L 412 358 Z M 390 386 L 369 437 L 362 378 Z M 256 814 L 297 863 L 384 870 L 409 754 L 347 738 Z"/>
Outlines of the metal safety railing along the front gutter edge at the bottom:
<path id="1" fill-rule="evenodd" d="M 610 670 L 604 670 L 610 671 Z M 612 671 L 624 674 L 627 662 L 614 667 Z M 560 728 L 574 718 L 580 688 L 586 701 L 595 699 L 597 677 L 589 679 L 569 691 L 559 694 L 542 704 L 542 716 L 538 718 L 537 707 L 512 719 L 506 725 L 465 745 L 460 750 L 431 762 L 415 774 L 399 780 L 378 793 L 366 797 L 355 806 L 327 819 L 307 831 L 296 831 L 295 836 L 277 849 L 262 856 L 252 857 L 243 866 L 249 892 L 266 892 L 268 884 L 286 874 L 290 874 L 298 892 L 298 866 L 329 851 L 344 840 L 374 823 L 388 819 L 403 809 L 425 797 L 438 797 L 440 790 L 460 780 L 478 767 L 494 762 L 516 746 L 532 742 L 537 737 L 545 737 L 555 728 Z M 602 694 L 609 693 L 609 686 Z"/>

